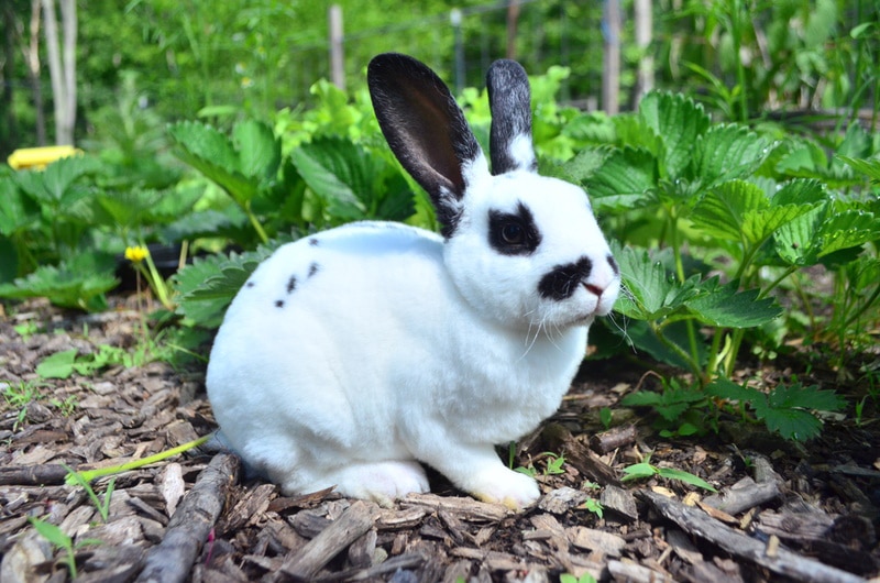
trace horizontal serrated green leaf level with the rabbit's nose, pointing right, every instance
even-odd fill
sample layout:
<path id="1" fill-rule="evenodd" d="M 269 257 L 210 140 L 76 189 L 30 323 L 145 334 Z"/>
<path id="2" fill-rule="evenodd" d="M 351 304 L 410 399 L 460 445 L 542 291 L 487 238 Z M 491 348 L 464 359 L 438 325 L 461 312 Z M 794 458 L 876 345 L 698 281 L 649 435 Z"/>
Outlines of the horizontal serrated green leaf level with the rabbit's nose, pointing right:
<path id="1" fill-rule="evenodd" d="M 782 314 L 776 299 L 758 299 L 759 294 L 759 289 L 739 292 L 738 282 L 718 286 L 716 277 L 704 282 L 700 295 L 685 304 L 705 323 L 722 328 L 751 328 Z"/>

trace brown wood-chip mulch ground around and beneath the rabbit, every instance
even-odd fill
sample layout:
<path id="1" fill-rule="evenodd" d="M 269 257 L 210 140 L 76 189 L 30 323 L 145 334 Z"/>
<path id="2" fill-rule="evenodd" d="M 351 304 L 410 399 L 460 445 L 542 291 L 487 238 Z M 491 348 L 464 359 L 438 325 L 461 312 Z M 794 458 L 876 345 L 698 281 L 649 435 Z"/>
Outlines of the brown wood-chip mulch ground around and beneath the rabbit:
<path id="1" fill-rule="evenodd" d="M 67 551 L 29 519 L 57 525 L 70 538 L 77 581 L 880 576 L 877 403 L 868 398 L 857 417 L 851 395 L 864 382 L 859 375 L 804 364 L 803 355 L 788 370 L 743 374 L 772 385 L 795 373 L 850 396 L 846 415 L 824 419 L 822 436 L 804 444 L 734 418 L 722 418 L 717 433 L 662 438 L 648 411 L 619 405 L 637 387 L 656 385 L 645 374 L 650 363 L 587 361 L 559 413 L 519 444 L 515 463 L 532 468 L 542 490 L 538 505 L 520 513 L 473 501 L 439 475 L 432 475 L 432 494 L 393 508 L 333 492 L 285 497 L 272 484 L 245 480 L 233 455 L 201 447 L 96 480 L 99 501 L 113 480 L 105 520 L 86 488 L 65 484 L 62 464 L 80 471 L 117 465 L 213 431 L 205 363 L 116 364 L 46 380 L 35 367 L 56 352 L 95 354 L 110 345 L 136 353 L 144 344 L 136 302 L 120 300 L 90 316 L 41 301 L 2 309 L 3 583 L 70 579 Z M 34 393 L 15 397 L 28 388 Z M 613 413 L 607 429 L 600 415 L 605 407 Z M 718 494 L 659 475 L 622 482 L 624 468 L 647 460 L 696 475 Z"/>

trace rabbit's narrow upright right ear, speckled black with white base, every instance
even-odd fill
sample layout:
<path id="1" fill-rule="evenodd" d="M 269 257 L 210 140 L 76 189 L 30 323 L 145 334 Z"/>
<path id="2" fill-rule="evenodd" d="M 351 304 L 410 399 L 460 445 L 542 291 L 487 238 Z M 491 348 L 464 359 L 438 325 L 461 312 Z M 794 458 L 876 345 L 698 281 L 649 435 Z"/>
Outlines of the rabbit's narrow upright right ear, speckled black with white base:
<path id="1" fill-rule="evenodd" d="M 515 61 L 496 61 L 486 74 L 492 110 L 492 174 L 538 170 L 531 143 L 531 92 L 526 70 Z"/>

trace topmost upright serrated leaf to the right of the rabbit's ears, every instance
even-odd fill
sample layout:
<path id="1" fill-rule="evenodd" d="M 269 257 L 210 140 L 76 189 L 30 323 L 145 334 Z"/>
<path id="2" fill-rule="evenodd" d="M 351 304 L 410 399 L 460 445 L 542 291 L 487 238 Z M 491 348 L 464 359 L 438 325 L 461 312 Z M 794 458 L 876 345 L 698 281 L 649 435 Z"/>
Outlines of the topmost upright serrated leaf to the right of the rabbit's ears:
<path id="1" fill-rule="evenodd" d="M 660 177 L 684 178 L 694 144 L 710 127 L 708 113 L 682 94 L 653 91 L 639 102 L 639 118 L 663 142 Z"/>

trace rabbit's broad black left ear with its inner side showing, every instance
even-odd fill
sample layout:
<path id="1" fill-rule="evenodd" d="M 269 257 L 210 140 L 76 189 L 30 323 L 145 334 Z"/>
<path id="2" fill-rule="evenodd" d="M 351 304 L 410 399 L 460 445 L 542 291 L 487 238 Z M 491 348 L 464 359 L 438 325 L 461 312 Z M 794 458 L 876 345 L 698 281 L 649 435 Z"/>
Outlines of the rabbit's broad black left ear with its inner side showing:
<path id="1" fill-rule="evenodd" d="M 449 237 L 483 153 L 449 88 L 425 64 L 385 53 L 370 62 L 370 97 L 380 128 L 406 170 L 431 196 Z M 485 162 L 483 162 L 485 165 Z"/>

